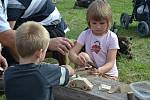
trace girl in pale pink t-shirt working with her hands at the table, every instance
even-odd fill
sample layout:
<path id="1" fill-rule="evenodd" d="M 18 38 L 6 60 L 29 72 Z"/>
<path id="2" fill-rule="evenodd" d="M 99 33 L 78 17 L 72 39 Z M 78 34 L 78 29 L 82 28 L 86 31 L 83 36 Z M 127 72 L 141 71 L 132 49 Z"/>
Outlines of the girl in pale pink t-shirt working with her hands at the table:
<path id="1" fill-rule="evenodd" d="M 117 79 L 116 54 L 119 49 L 118 37 L 110 31 L 112 23 L 111 7 L 106 0 L 95 0 L 88 7 L 86 15 L 89 29 L 83 31 L 75 46 L 70 50 L 70 60 L 83 66 L 87 59 L 85 53 L 80 53 L 85 45 L 85 52 L 95 63 L 96 68 L 91 73 L 98 73 L 107 78 Z"/>

